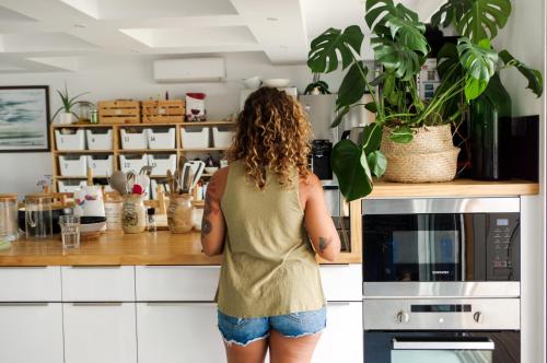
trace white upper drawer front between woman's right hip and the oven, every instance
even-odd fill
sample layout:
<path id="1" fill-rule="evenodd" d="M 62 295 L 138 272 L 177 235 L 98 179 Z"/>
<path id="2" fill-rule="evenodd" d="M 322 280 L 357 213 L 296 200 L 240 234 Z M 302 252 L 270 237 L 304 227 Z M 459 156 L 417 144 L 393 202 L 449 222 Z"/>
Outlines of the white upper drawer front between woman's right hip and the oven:
<path id="1" fill-rule="evenodd" d="M 322 265 L 319 271 L 327 301 L 362 301 L 360 264 Z"/>

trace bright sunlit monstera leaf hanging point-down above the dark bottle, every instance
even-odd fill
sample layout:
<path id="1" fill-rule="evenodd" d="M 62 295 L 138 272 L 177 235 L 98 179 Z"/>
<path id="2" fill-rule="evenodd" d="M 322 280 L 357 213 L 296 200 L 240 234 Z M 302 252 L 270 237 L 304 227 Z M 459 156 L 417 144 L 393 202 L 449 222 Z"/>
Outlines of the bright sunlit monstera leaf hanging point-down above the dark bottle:
<path id="1" fill-rule="evenodd" d="M 488 86 L 496 72 L 498 54 L 490 47 L 490 40 L 482 39 L 479 44 L 474 44 L 468 38 L 459 38 L 457 51 L 466 73 L 465 98 L 469 102 L 477 98 Z"/>

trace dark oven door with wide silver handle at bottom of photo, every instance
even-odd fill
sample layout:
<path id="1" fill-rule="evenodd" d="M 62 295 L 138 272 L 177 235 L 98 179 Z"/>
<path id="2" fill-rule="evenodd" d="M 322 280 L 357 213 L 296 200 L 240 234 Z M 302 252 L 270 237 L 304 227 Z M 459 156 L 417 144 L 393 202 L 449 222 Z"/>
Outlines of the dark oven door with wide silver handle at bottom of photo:
<path id="1" fill-rule="evenodd" d="M 364 362 L 519 363 L 517 331 L 365 331 Z"/>

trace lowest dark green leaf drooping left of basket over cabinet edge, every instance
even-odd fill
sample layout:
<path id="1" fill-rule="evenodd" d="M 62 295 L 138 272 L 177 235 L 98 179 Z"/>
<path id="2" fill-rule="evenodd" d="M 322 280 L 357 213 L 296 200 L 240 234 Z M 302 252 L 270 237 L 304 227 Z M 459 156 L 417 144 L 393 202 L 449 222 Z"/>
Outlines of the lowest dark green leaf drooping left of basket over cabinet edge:
<path id="1" fill-rule="evenodd" d="M 333 148 L 330 164 L 348 201 L 366 197 L 372 191 L 372 180 L 361 164 L 363 155 L 362 149 L 350 140 L 341 140 Z"/>

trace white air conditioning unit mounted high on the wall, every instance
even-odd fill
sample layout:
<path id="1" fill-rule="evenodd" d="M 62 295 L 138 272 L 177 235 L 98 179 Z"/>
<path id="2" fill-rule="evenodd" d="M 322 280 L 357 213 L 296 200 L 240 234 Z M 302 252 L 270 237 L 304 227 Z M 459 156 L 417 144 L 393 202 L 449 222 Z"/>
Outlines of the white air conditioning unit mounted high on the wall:
<path id="1" fill-rule="evenodd" d="M 154 80 L 161 83 L 221 82 L 225 78 L 223 58 L 154 60 Z"/>

